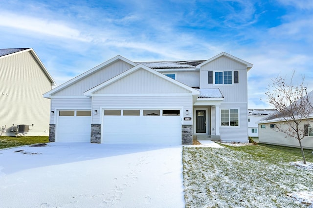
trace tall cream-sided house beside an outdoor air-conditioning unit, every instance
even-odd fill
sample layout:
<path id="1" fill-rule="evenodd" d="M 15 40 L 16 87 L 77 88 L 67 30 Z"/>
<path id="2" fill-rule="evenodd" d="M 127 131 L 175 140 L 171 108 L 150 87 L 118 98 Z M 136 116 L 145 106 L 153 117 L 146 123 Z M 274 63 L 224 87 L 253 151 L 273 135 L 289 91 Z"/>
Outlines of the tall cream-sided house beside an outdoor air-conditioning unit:
<path id="1" fill-rule="evenodd" d="M 0 135 L 49 135 L 50 102 L 55 85 L 32 48 L 0 49 Z"/>

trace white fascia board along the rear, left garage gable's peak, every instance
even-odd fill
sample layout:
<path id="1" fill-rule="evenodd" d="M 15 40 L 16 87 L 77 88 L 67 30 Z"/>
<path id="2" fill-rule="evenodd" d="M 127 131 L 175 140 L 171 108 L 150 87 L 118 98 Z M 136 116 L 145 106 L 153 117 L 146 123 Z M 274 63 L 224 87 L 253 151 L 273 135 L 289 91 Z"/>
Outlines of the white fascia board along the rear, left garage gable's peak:
<path id="1" fill-rule="evenodd" d="M 80 80 L 80 79 L 83 79 L 84 77 L 86 77 L 86 76 L 88 76 L 89 74 L 95 72 L 96 70 L 98 70 L 98 69 L 100 69 L 100 68 L 102 68 L 102 67 L 104 67 L 104 66 L 107 66 L 107 65 L 109 65 L 109 64 L 111 64 L 111 63 L 113 63 L 113 62 L 116 62 L 117 60 L 122 60 L 122 61 L 124 61 L 124 62 L 127 62 L 127 63 L 133 65 L 133 66 L 136 66 L 136 65 L 137 65 L 136 63 L 131 62 L 130 60 L 125 59 L 124 57 L 122 57 L 122 56 L 120 56 L 120 55 L 117 55 L 117 56 L 115 56 L 114 58 L 112 58 L 112 59 L 110 59 L 110 60 L 108 60 L 108 61 L 106 61 L 106 62 L 103 62 L 103 63 L 101 63 L 100 65 L 97 65 L 97 66 L 93 67 L 92 69 L 89 69 L 88 71 L 84 72 L 83 74 L 78 75 L 77 77 L 74 77 L 73 79 L 67 81 L 66 83 L 63 83 L 63 84 L 61 84 L 60 86 L 57 86 L 56 88 L 54 88 L 54 89 L 48 91 L 47 93 L 44 94 L 44 98 L 50 98 L 50 97 L 51 97 L 51 94 L 56 93 L 57 91 L 59 91 L 59 90 L 61 90 L 61 89 L 64 89 L 64 88 L 67 87 L 68 85 L 70 85 L 70 84 L 72 84 L 72 83 L 74 83 L 74 82 L 76 82 L 76 81 L 78 81 L 78 80 Z"/>

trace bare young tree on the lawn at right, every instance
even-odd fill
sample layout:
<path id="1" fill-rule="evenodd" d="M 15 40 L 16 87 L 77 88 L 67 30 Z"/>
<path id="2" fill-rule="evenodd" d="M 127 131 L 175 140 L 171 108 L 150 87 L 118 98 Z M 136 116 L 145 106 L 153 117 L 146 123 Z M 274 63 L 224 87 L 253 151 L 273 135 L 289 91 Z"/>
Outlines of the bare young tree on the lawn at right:
<path id="1" fill-rule="evenodd" d="M 294 73 L 290 83 L 287 83 L 281 76 L 272 80 L 273 83 L 268 86 L 266 95 L 268 96 L 268 103 L 278 110 L 275 118 L 271 118 L 279 121 L 274 130 L 284 132 L 298 140 L 303 163 L 306 164 L 301 140 L 306 136 L 307 132 L 305 132 L 304 125 L 309 126 L 309 116 L 312 115 L 313 107 L 310 104 L 307 88 L 303 85 L 304 78 L 299 85 L 293 85 Z"/>

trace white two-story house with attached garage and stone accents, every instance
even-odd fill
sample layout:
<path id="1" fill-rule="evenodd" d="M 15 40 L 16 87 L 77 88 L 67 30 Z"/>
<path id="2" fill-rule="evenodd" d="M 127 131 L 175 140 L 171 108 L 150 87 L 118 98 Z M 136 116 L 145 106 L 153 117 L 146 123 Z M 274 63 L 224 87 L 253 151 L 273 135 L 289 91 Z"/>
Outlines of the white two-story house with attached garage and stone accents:
<path id="1" fill-rule="evenodd" d="M 247 71 L 227 53 L 206 61 L 132 62 L 116 56 L 44 94 L 51 142 L 248 142 Z"/>

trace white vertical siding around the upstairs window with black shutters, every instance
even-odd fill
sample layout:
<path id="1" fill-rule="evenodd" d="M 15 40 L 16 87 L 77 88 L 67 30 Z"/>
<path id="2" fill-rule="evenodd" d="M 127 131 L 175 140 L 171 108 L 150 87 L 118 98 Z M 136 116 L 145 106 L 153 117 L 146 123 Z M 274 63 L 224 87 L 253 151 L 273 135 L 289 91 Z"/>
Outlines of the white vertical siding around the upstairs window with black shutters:
<path id="1" fill-rule="evenodd" d="M 215 85 L 208 83 L 208 71 L 238 71 L 239 83 Z M 246 65 L 224 56 L 208 62 L 200 69 L 200 88 L 219 88 L 224 102 L 247 102 L 247 68 Z"/>

